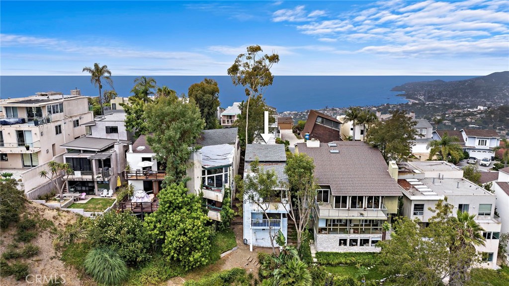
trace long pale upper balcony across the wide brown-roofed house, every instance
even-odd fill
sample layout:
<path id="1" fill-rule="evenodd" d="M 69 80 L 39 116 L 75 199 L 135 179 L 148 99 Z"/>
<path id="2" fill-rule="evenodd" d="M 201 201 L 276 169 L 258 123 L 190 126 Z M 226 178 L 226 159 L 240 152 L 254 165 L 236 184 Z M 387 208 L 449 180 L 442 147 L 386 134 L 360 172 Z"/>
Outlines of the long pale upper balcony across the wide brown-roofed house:
<path id="1" fill-rule="evenodd" d="M 315 202 L 315 207 L 319 217 L 387 219 L 387 208 L 383 204 L 380 209 L 334 209 L 330 204 Z"/>

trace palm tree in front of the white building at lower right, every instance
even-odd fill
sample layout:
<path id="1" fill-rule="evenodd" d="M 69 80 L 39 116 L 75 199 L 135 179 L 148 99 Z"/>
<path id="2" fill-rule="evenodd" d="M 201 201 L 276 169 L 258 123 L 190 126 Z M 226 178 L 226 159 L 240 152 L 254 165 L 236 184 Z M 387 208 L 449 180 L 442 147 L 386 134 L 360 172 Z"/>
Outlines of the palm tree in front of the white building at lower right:
<path id="1" fill-rule="evenodd" d="M 451 253 L 456 253 L 457 250 L 465 248 L 475 252 L 475 246 L 485 245 L 485 238 L 482 235 L 484 228 L 477 224 L 474 218 L 475 214 L 470 215 L 468 212 L 458 210 L 456 218 L 458 221 L 456 237 L 449 247 Z M 468 279 L 470 264 L 470 258 L 462 259 L 461 257 L 451 262 L 449 285 L 464 285 L 465 281 Z"/>

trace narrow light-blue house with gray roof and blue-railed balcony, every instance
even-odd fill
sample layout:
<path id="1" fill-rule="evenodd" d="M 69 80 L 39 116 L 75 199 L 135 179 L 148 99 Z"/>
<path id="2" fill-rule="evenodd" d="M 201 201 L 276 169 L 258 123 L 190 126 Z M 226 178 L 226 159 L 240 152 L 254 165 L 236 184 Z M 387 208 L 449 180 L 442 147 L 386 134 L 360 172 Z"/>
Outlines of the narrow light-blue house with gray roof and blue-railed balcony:
<path id="1" fill-rule="evenodd" d="M 284 145 L 248 144 L 244 159 L 244 178 L 252 174 L 250 163 L 257 159 L 263 170 L 273 170 L 278 181 L 288 182 L 285 174 L 287 157 Z M 279 230 L 288 241 L 290 205 L 285 198 L 284 190 L 285 187 L 282 185 L 275 189 L 281 192 L 281 196 L 274 201 L 260 198 L 256 193 L 244 194 L 243 237 L 244 243 L 249 245 L 251 251 L 253 246 L 271 247 L 271 236 L 275 237 Z M 274 246 L 277 246 L 277 243 L 274 242 Z"/>

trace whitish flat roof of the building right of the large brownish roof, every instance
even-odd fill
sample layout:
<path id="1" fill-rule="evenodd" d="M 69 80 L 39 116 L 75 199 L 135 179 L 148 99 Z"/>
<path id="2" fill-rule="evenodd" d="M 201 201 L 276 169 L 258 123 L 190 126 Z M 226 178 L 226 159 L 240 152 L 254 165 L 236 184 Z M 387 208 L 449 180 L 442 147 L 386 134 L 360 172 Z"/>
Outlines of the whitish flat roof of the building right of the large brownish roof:
<path id="1" fill-rule="evenodd" d="M 398 184 L 412 196 L 494 195 L 464 178 L 399 179 Z"/>

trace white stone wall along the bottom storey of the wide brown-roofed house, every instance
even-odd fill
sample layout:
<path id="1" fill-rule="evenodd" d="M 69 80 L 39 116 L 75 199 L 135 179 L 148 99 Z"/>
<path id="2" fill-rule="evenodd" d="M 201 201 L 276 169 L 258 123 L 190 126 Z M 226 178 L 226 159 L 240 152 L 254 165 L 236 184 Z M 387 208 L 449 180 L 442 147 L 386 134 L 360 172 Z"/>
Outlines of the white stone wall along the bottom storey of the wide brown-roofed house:
<path id="1" fill-rule="evenodd" d="M 371 246 L 340 246 L 340 238 L 369 238 L 382 240 L 382 235 L 322 235 L 315 234 L 315 248 L 319 252 L 380 252 L 380 247 Z M 347 241 L 348 242 L 348 241 Z"/>

